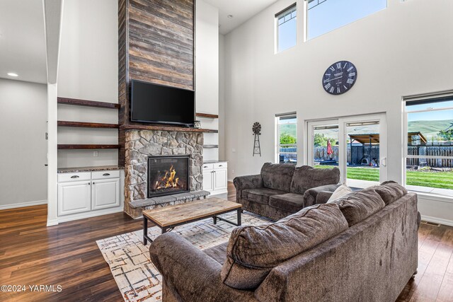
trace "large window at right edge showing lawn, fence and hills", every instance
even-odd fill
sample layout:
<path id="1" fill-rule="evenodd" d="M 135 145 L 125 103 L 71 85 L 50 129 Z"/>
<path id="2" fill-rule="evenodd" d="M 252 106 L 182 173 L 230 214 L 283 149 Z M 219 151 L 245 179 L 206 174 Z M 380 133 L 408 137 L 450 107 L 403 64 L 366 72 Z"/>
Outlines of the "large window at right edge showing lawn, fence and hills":
<path id="1" fill-rule="evenodd" d="M 406 100 L 406 187 L 453 195 L 453 95 Z"/>

